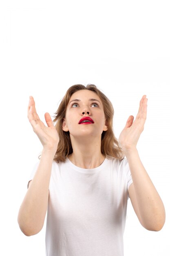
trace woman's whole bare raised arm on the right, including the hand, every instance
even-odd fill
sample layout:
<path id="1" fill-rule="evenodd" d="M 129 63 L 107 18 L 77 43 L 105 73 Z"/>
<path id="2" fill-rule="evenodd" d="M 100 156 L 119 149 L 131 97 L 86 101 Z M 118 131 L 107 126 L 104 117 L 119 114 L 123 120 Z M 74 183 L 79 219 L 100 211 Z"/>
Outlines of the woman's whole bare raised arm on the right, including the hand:
<path id="1" fill-rule="evenodd" d="M 129 187 L 129 197 L 132 206 L 142 226 L 148 230 L 159 231 L 165 222 L 165 209 L 163 202 L 146 172 L 136 148 L 146 121 L 147 100 L 144 95 L 140 101 L 139 112 L 134 120 L 128 118 L 119 141 L 132 175 L 133 183 Z"/>

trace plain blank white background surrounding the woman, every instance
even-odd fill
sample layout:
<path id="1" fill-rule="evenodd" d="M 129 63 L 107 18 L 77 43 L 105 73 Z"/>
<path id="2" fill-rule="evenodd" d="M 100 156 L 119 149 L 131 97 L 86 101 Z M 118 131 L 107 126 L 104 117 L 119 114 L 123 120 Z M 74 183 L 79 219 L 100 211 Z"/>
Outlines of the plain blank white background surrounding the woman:
<path id="1" fill-rule="evenodd" d="M 166 208 L 159 232 L 130 203 L 124 256 L 168 256 L 170 230 L 170 7 L 168 0 L 11 0 L 0 3 L 0 229 L 4 256 L 45 256 L 45 224 L 26 237 L 17 216 L 42 145 L 27 119 L 29 96 L 51 117 L 66 90 L 94 83 L 112 101 L 119 137 L 148 98 L 137 145 Z"/>

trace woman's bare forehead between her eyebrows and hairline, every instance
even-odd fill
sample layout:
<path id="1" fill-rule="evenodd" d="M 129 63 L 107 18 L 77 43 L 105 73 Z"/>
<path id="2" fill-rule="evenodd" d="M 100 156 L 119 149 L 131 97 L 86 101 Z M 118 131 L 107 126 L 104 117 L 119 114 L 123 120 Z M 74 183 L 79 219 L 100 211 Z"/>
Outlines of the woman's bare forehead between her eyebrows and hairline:
<path id="1" fill-rule="evenodd" d="M 91 98 L 97 99 L 97 100 L 99 100 L 102 103 L 102 101 L 99 98 L 99 96 L 95 92 L 90 91 L 90 90 L 79 90 L 77 92 L 74 92 L 71 95 L 70 101 L 72 99 L 80 99 L 80 100 L 87 99 L 88 100 L 88 99 L 91 99 Z"/>

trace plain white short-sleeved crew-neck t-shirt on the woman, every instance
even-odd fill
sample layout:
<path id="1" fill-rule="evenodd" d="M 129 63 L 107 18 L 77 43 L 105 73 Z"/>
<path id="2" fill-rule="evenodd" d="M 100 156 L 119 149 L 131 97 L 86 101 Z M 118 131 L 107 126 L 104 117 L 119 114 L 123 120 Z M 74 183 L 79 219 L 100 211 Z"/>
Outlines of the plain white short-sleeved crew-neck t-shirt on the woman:
<path id="1" fill-rule="evenodd" d="M 59 164 L 53 161 L 46 256 L 123 256 L 130 184 L 126 158 L 105 158 L 93 169 L 77 167 L 68 158 Z"/>

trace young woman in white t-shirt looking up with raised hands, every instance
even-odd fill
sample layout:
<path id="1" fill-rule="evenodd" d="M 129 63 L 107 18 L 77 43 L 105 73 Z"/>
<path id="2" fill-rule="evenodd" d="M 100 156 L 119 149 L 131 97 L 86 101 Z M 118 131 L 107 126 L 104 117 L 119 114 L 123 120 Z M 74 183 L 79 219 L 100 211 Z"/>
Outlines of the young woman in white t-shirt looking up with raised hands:
<path id="1" fill-rule="evenodd" d="M 48 127 L 40 121 L 30 97 L 28 118 L 43 150 L 18 223 L 26 236 L 35 235 L 48 209 L 47 256 L 123 256 L 128 197 L 144 228 L 159 231 L 163 227 L 163 202 L 136 148 L 147 101 L 144 95 L 135 121 L 133 116 L 128 118 L 118 141 L 112 103 L 95 85 L 71 86 L 55 119 L 45 113 Z"/>

